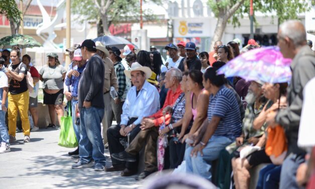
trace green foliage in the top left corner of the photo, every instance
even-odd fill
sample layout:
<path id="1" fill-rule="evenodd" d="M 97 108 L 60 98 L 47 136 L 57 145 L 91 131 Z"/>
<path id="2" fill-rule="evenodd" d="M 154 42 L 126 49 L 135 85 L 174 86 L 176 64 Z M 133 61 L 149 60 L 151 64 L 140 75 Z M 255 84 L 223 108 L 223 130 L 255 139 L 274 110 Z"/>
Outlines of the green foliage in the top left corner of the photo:
<path id="1" fill-rule="evenodd" d="M 15 0 L 0 0 L 0 15 L 6 16 L 8 20 L 19 23 L 21 12 Z"/>

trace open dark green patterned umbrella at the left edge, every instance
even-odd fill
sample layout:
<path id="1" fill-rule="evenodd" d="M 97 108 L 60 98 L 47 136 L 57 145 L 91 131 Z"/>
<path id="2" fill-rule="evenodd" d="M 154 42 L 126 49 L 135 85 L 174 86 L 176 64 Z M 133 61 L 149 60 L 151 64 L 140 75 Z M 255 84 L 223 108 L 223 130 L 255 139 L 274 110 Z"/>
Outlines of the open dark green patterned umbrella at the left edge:
<path id="1" fill-rule="evenodd" d="M 42 46 L 34 38 L 28 35 L 14 34 L 0 39 L 0 49 L 12 49 L 12 47 L 33 48 Z"/>

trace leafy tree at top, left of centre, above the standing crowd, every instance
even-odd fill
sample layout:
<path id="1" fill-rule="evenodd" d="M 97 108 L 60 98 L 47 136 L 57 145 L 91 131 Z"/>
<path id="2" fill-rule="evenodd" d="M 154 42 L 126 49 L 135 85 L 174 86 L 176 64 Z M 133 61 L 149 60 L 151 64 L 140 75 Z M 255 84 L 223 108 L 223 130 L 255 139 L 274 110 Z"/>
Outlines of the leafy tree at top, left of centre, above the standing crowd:
<path id="1" fill-rule="evenodd" d="M 154 2 L 159 4 L 161 1 Z M 109 34 L 111 24 L 138 21 L 140 2 L 139 0 L 72 0 L 71 11 L 81 22 L 96 22 L 97 36 L 101 36 Z M 144 11 L 143 16 L 146 20 L 155 19 L 150 10 Z"/>

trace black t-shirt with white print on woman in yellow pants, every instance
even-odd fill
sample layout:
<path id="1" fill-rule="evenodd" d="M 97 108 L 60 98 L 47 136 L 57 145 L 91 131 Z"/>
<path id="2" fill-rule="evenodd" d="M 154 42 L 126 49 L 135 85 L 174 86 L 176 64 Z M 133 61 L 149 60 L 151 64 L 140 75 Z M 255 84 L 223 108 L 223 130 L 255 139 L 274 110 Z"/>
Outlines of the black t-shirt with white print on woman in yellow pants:
<path id="1" fill-rule="evenodd" d="M 21 66 L 20 66 L 21 64 Z M 21 62 L 20 64 L 13 65 L 9 67 L 12 71 L 16 72 L 17 74 L 19 73 L 24 73 L 25 76 L 22 81 L 15 80 L 14 78 L 11 79 L 10 81 L 10 86 L 9 86 L 9 92 L 11 94 L 20 94 L 22 92 L 27 91 L 27 81 L 26 81 L 26 74 L 27 74 L 27 66 Z M 19 68 L 20 67 L 20 68 Z"/>

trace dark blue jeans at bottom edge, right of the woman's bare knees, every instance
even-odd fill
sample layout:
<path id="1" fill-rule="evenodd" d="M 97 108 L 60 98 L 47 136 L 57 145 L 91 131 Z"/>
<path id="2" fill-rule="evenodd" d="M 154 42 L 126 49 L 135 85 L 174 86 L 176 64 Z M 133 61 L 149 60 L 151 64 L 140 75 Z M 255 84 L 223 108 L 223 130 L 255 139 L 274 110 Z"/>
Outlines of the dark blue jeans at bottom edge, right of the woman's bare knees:
<path id="1" fill-rule="evenodd" d="M 270 164 L 259 171 L 259 179 L 256 189 L 279 188 L 281 165 Z"/>

